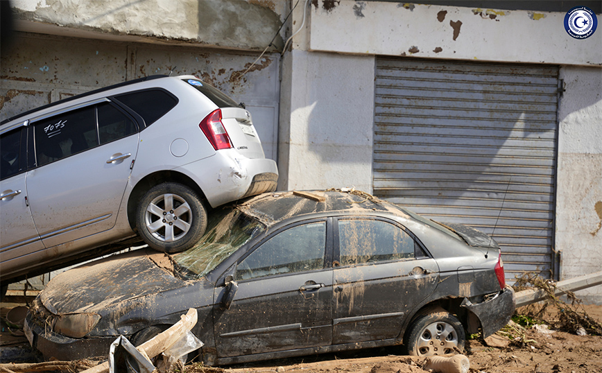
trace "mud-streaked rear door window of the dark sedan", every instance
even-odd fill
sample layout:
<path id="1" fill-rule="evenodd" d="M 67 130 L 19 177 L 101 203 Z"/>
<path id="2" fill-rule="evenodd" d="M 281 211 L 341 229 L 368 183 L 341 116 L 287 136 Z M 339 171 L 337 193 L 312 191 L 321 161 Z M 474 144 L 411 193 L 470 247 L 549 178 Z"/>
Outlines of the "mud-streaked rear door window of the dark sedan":
<path id="1" fill-rule="evenodd" d="M 341 266 L 412 259 L 415 241 L 403 229 L 383 220 L 338 220 Z"/>

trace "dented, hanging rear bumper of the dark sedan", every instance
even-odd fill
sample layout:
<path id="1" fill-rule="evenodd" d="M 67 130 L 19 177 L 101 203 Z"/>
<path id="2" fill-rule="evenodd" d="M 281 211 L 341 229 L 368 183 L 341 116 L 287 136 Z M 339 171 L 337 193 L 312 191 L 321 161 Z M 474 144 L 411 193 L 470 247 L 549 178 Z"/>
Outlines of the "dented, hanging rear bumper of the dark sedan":
<path id="1" fill-rule="evenodd" d="M 506 286 L 484 302 L 472 303 L 465 298 L 461 306 L 479 318 L 483 338 L 487 338 L 505 327 L 512 318 L 516 308 L 515 293 L 513 288 Z"/>

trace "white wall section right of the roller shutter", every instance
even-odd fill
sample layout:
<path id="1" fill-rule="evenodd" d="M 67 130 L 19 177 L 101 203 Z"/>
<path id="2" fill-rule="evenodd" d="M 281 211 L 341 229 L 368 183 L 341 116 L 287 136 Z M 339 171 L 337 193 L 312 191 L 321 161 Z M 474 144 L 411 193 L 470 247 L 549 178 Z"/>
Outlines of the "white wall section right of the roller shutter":
<path id="1" fill-rule="evenodd" d="M 570 279 L 602 270 L 602 71 L 562 67 L 560 78 L 556 249 Z M 602 286 L 577 295 L 602 304 Z"/>

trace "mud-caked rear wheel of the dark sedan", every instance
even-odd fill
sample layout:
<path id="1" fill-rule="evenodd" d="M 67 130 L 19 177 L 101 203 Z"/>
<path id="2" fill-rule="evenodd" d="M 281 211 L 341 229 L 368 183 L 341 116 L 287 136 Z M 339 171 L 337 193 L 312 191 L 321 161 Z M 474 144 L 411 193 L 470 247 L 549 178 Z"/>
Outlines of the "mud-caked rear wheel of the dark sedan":
<path id="1" fill-rule="evenodd" d="M 462 351 L 465 338 L 464 327 L 456 316 L 436 312 L 414 320 L 404 337 L 404 346 L 408 355 L 445 355 L 456 349 Z"/>

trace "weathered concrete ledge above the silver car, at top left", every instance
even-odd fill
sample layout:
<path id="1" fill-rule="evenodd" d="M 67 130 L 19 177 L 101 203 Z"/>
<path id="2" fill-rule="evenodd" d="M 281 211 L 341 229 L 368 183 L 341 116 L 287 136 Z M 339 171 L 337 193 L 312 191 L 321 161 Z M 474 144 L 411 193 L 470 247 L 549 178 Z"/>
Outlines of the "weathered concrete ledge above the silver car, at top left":
<path id="1" fill-rule="evenodd" d="M 11 4 L 18 31 L 260 51 L 282 25 L 288 6 L 279 0 L 12 0 Z M 282 46 L 279 35 L 270 51 Z"/>

